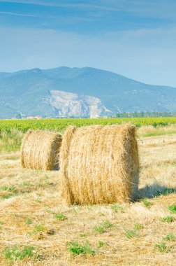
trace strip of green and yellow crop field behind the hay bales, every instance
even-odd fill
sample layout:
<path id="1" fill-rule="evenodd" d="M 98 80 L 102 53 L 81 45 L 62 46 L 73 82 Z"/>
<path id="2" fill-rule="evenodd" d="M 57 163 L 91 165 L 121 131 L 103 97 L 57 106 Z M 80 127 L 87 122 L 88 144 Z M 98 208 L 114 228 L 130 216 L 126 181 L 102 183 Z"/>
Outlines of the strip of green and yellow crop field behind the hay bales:
<path id="1" fill-rule="evenodd" d="M 84 125 L 113 125 L 131 122 L 137 127 L 143 125 L 166 126 L 176 123 L 176 118 L 95 118 L 95 119 L 41 119 L 41 120 L 0 120 L 0 132 L 17 130 L 57 130 L 64 131 L 68 125 L 82 127 Z"/>

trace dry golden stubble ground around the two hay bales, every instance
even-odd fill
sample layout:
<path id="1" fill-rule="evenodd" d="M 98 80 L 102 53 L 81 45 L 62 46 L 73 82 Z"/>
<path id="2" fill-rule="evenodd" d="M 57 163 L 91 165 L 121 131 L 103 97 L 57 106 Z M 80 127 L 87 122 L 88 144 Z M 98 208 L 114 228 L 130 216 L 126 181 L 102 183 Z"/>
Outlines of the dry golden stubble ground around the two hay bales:
<path id="1" fill-rule="evenodd" d="M 176 204 L 176 194 L 170 193 L 176 189 L 176 134 L 163 139 L 139 139 L 139 193 L 141 199 L 151 197 L 148 207 L 142 200 L 66 207 L 58 172 L 21 169 L 20 152 L 1 153 L 0 265 L 174 266 L 176 242 L 163 238 L 176 235 L 176 214 L 168 210 Z M 175 221 L 161 221 L 167 216 Z M 66 243 L 75 241 L 84 247 L 89 241 L 95 253 L 71 255 Z M 162 242 L 167 249 L 161 252 L 155 245 Z M 3 248 L 15 245 L 34 247 L 38 258 L 36 253 L 23 260 L 5 258 Z"/>

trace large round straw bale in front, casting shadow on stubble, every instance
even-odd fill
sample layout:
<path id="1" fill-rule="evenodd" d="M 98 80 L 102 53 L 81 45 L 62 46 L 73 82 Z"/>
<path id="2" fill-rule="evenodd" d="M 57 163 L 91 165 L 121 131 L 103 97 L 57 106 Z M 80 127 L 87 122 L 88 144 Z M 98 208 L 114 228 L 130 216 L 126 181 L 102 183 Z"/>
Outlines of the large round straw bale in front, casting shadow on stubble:
<path id="1" fill-rule="evenodd" d="M 59 164 L 66 204 L 129 202 L 138 190 L 135 126 L 68 127 Z"/>

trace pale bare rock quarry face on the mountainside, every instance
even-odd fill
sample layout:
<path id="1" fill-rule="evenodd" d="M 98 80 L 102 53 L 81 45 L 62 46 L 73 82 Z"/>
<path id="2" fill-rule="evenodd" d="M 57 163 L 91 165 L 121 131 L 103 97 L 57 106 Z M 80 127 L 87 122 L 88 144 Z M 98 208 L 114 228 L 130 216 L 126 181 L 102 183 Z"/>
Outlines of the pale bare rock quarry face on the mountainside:
<path id="1" fill-rule="evenodd" d="M 61 90 L 50 90 L 50 97 L 47 99 L 54 109 L 56 116 L 110 116 L 112 112 L 101 103 L 101 100 L 82 94 L 63 92 Z"/>

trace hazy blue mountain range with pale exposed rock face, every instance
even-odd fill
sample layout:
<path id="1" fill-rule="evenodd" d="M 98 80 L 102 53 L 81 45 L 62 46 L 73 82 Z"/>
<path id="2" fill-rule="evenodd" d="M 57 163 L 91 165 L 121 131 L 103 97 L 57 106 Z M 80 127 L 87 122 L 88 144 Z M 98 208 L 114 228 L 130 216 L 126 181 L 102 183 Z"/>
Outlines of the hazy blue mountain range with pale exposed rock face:
<path id="1" fill-rule="evenodd" d="M 147 85 L 90 67 L 0 73 L 0 118 L 103 117 L 119 112 L 176 111 L 176 88 Z"/>

